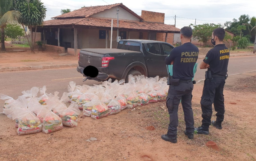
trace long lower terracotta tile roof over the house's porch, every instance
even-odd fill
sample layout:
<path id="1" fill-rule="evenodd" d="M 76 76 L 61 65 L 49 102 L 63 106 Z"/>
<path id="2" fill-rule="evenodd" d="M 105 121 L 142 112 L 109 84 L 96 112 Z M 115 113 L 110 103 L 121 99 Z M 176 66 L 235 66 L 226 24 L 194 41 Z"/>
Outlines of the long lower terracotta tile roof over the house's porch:
<path id="1" fill-rule="evenodd" d="M 44 26 L 59 26 L 59 25 L 77 25 L 77 26 L 95 26 L 102 28 L 111 28 L 110 19 L 100 18 L 69 18 L 69 19 L 54 19 L 44 21 Z M 134 30 L 151 30 L 162 32 L 176 32 L 179 33 L 180 29 L 174 25 L 167 25 L 164 23 L 148 23 L 137 21 L 124 21 L 119 20 L 119 28 L 134 29 Z M 117 28 L 117 20 L 113 20 L 113 28 Z"/>

